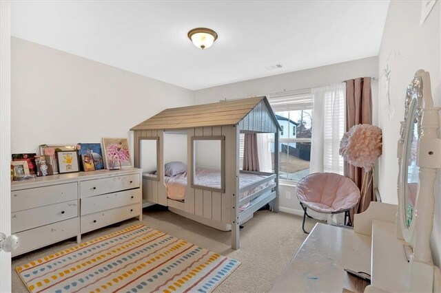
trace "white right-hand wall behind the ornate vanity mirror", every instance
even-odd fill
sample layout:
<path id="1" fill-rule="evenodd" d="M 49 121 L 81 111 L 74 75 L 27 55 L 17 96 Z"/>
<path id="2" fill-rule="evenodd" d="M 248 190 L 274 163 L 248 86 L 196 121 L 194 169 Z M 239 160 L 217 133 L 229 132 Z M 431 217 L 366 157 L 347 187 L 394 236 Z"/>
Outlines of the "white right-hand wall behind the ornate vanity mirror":
<path id="1" fill-rule="evenodd" d="M 391 1 L 384 27 L 378 71 L 391 71 L 389 94 L 391 115 L 388 112 L 387 82 L 385 76 L 379 81 L 379 126 L 383 131 L 383 154 L 378 162 L 378 189 L 384 202 L 396 204 L 396 180 L 398 162 L 396 147 L 400 121 L 404 119 L 404 95 L 407 85 L 418 69 L 431 74 L 433 100 L 441 105 L 440 89 L 440 1 L 431 14 L 420 25 L 421 1 Z M 441 183 L 438 175 L 435 186 L 435 219 L 432 235 L 432 250 L 435 263 L 440 264 L 441 254 Z"/>

